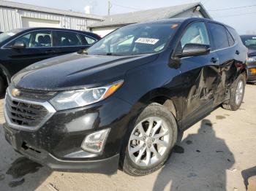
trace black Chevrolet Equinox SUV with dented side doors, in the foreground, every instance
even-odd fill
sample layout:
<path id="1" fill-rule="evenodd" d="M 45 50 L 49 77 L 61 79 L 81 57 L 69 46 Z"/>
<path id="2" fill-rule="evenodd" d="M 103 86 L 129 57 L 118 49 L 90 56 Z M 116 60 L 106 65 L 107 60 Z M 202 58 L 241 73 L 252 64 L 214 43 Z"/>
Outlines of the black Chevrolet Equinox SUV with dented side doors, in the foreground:
<path id="1" fill-rule="evenodd" d="M 150 174 L 184 130 L 219 105 L 241 106 L 246 54 L 236 31 L 214 20 L 124 26 L 87 52 L 15 74 L 5 137 L 55 170 L 113 174 L 119 165 L 132 176 Z"/>

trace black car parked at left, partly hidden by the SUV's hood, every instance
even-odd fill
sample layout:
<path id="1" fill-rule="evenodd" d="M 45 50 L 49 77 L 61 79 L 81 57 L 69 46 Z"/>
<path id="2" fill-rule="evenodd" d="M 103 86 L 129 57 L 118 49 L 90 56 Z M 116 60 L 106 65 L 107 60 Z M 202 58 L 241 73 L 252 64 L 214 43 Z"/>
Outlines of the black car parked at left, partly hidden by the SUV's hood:
<path id="1" fill-rule="evenodd" d="M 0 34 L 0 94 L 26 66 L 86 49 L 99 39 L 97 34 L 62 28 L 18 28 Z"/>

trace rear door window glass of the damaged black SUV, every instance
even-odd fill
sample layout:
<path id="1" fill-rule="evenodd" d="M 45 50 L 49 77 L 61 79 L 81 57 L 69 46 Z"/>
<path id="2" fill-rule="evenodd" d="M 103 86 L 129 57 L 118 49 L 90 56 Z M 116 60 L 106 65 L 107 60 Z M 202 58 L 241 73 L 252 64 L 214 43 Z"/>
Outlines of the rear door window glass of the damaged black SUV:
<path id="1" fill-rule="evenodd" d="M 219 24 L 209 23 L 211 35 L 213 37 L 215 50 L 229 47 L 226 28 Z"/>

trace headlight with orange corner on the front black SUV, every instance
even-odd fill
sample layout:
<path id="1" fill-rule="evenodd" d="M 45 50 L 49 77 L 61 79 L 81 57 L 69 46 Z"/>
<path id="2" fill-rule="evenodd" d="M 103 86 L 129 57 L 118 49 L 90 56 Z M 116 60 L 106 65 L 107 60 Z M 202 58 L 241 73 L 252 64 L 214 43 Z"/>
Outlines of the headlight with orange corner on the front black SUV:
<path id="1" fill-rule="evenodd" d="M 94 104 L 112 95 L 121 85 L 123 80 L 104 87 L 83 90 L 64 91 L 50 100 L 56 110 L 72 109 L 80 106 Z"/>

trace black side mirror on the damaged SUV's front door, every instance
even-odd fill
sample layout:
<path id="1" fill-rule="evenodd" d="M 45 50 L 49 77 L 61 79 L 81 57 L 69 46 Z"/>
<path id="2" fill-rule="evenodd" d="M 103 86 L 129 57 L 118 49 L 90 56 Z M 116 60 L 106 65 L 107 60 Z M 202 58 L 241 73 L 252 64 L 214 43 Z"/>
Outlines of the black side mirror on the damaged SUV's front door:
<path id="1" fill-rule="evenodd" d="M 208 44 L 185 44 L 181 53 L 176 54 L 176 57 L 182 58 L 195 55 L 207 55 L 211 51 L 211 47 Z"/>

